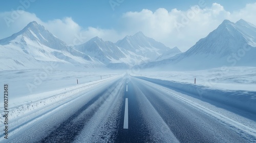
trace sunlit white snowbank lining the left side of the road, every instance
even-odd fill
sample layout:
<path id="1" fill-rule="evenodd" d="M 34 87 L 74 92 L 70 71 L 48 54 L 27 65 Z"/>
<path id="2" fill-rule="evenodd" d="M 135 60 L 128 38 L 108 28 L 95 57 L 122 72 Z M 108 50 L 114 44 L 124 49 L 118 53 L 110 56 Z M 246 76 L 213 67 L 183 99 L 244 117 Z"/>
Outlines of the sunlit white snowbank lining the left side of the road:
<path id="1" fill-rule="evenodd" d="M 58 104 L 59 102 L 62 102 L 62 101 L 72 100 L 77 96 L 79 96 L 79 94 L 82 94 L 84 91 L 91 90 L 92 88 L 96 88 L 97 86 L 100 86 L 101 84 L 105 84 L 106 82 L 113 82 L 122 76 L 123 75 L 118 75 L 115 77 L 92 81 L 84 84 L 79 84 L 76 86 L 70 86 L 67 88 L 42 92 L 39 94 L 31 94 L 27 97 L 16 98 L 12 102 L 17 102 L 20 100 L 20 101 L 23 101 L 22 102 L 23 104 L 8 108 L 9 120 L 13 120 L 16 117 L 26 116 L 28 114 L 34 113 L 38 110 L 41 110 L 53 104 Z M 3 111 L 4 111 L 4 108 L 0 107 L 0 112 L 1 112 L 0 122 L 2 123 L 4 121 Z"/>

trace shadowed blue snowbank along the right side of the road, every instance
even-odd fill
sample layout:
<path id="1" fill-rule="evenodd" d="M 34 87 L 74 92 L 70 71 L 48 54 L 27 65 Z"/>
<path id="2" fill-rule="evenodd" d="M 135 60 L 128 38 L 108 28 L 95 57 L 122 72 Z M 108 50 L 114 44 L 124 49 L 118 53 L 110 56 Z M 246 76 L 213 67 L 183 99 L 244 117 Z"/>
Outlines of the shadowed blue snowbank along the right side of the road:
<path id="1" fill-rule="evenodd" d="M 147 77 L 136 78 L 190 93 L 199 99 L 208 99 L 248 112 L 256 113 L 256 92 L 253 91 L 219 90 L 196 84 L 180 83 Z"/>

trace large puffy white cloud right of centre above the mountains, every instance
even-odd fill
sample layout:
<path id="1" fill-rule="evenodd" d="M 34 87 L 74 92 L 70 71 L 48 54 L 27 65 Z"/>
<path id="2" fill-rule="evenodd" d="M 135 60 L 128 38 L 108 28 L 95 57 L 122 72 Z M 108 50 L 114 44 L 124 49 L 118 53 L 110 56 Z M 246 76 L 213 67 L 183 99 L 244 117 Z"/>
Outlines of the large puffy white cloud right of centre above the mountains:
<path id="1" fill-rule="evenodd" d="M 230 13 L 220 4 L 212 4 L 210 8 L 193 6 L 187 11 L 158 9 L 155 12 L 127 12 L 123 15 L 125 28 L 136 32 L 141 30 L 145 35 L 186 51 L 200 38 L 216 29 Z"/>

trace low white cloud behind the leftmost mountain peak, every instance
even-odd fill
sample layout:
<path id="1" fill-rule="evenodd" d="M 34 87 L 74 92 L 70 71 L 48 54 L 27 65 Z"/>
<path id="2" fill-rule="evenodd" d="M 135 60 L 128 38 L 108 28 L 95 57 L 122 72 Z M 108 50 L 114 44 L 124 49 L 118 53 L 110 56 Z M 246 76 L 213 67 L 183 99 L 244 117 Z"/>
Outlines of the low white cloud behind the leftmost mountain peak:
<path id="1" fill-rule="evenodd" d="M 0 39 L 11 36 L 22 30 L 31 21 L 37 21 L 37 23 L 43 25 L 52 34 L 69 45 L 84 43 L 95 36 L 111 41 L 118 39 L 120 36 L 115 30 L 105 30 L 93 27 L 83 29 L 71 17 L 44 22 L 34 13 L 26 11 L 10 11 L 0 13 L 0 19 Z"/>

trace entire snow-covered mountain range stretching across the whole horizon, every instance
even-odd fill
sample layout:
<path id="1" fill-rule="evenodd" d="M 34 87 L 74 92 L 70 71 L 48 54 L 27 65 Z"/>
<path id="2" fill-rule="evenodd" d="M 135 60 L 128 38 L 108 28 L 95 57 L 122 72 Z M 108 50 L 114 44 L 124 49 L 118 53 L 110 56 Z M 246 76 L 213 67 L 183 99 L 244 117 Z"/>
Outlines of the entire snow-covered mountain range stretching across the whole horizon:
<path id="1" fill-rule="evenodd" d="M 82 67 L 206 69 L 256 66 L 256 27 L 241 19 L 224 20 L 188 51 L 170 49 L 142 32 L 113 43 L 94 37 L 68 46 L 37 22 L 0 40 L 0 70 L 41 68 L 50 64 Z"/>

